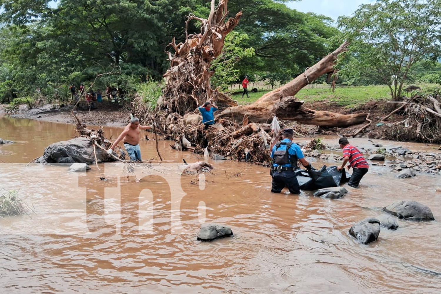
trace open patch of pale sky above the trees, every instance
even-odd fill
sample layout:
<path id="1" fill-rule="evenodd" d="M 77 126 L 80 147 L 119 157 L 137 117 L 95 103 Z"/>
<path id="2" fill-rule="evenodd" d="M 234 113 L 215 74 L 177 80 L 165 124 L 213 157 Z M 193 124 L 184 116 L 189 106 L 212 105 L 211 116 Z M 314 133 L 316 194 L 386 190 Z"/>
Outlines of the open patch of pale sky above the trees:
<path id="1" fill-rule="evenodd" d="M 334 21 L 340 15 L 351 16 L 361 4 L 373 3 L 374 0 L 300 0 L 286 6 L 300 12 L 314 12 L 331 17 Z"/>

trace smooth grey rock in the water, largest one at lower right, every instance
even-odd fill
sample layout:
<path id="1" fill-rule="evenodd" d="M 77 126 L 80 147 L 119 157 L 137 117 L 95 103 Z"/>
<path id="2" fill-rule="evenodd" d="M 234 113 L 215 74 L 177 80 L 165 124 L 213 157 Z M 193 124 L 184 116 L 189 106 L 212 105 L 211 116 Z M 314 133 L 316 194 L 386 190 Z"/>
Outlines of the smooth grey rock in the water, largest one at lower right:
<path id="1" fill-rule="evenodd" d="M 429 207 L 413 200 L 403 200 L 383 207 L 383 211 L 406 220 L 434 220 Z"/>

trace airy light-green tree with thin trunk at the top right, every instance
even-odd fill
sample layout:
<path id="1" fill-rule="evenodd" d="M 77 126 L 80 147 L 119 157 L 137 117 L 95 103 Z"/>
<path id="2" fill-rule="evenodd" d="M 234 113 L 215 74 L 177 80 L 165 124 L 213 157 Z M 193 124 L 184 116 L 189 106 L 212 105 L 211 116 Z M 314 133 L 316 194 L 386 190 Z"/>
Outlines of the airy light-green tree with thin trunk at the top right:
<path id="1" fill-rule="evenodd" d="M 436 61 L 440 54 L 441 0 L 377 0 L 363 4 L 352 17 L 340 17 L 344 38 L 355 58 L 340 71 L 345 77 L 363 77 L 376 71 L 389 85 L 392 99 L 416 62 Z"/>

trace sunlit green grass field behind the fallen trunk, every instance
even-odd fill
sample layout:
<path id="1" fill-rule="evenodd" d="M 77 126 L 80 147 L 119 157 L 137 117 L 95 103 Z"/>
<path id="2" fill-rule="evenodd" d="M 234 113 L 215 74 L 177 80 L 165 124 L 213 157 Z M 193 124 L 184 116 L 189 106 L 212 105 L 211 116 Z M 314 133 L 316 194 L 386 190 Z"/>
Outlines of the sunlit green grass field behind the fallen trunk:
<path id="1" fill-rule="evenodd" d="M 231 97 L 239 104 L 247 105 L 268 92 L 269 90 L 262 90 L 258 93 L 249 93 L 249 98 L 246 96 L 242 98 L 242 94 L 233 94 Z M 314 85 L 314 87 L 306 86 L 301 89 L 295 97 L 309 103 L 332 100 L 338 106 L 352 109 L 370 101 L 388 100 L 390 99 L 390 91 L 388 86 L 336 86 L 333 92 L 329 85 Z"/>

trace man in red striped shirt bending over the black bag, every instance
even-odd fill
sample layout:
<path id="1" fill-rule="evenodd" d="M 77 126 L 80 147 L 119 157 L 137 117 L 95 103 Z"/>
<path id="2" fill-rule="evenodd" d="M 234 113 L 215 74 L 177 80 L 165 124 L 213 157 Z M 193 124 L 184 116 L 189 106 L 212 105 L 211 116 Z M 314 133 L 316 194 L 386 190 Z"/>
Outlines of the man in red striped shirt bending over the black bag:
<path id="1" fill-rule="evenodd" d="M 343 163 L 341 164 L 341 167 L 337 167 L 337 170 L 344 170 L 344 166 L 349 161 L 348 169 L 352 167 L 353 171 L 348 185 L 353 188 L 358 188 L 363 175 L 366 175 L 366 172 L 369 170 L 369 164 L 364 159 L 363 154 L 359 149 L 349 145 L 348 138 L 341 137 L 338 140 L 338 144 L 340 144 L 340 148 L 343 149 Z"/>

